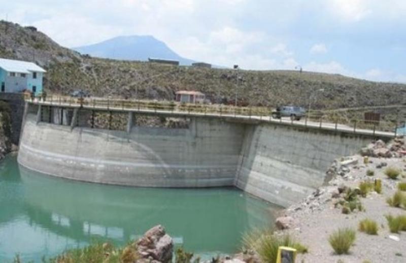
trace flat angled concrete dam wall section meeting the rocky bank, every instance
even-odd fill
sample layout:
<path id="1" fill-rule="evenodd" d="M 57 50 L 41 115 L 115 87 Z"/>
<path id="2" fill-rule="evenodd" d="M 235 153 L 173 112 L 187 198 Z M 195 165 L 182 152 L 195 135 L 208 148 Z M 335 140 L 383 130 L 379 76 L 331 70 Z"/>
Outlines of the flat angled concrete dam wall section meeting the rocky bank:
<path id="1" fill-rule="evenodd" d="M 326 183 L 334 159 L 355 154 L 370 141 L 289 125 L 253 125 L 246 129 L 234 184 L 286 207 Z"/>

